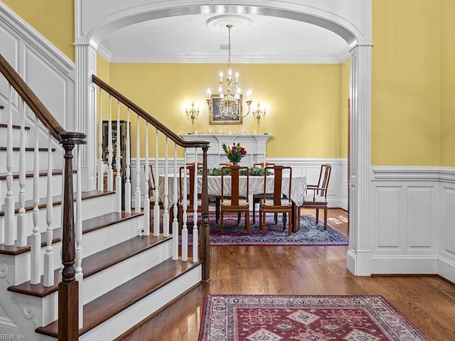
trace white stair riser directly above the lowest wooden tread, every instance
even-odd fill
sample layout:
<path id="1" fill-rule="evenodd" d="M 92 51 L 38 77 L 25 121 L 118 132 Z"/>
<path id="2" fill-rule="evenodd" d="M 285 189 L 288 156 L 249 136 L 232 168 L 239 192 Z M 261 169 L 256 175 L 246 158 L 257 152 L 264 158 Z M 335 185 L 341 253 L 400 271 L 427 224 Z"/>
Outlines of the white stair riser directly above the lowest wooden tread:
<path id="1" fill-rule="evenodd" d="M 169 240 L 88 277 L 84 280 L 83 285 L 83 304 L 95 300 L 95 298 L 139 276 L 144 271 L 161 263 L 161 261 L 171 258 L 171 256 L 172 244 L 171 240 Z M 84 269 L 82 268 L 83 271 Z"/>

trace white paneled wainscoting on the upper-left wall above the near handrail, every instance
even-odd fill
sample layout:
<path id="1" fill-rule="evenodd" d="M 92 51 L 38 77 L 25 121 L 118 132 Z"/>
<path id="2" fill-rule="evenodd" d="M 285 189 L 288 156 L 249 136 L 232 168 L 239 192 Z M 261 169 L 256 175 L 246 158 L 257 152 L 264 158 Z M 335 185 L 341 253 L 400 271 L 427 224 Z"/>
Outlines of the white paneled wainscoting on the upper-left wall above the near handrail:
<path id="1" fill-rule="evenodd" d="M 0 53 L 68 131 L 75 130 L 75 64 L 34 28 L 0 2 Z M 9 107 L 9 84 L 0 77 L 0 104 Z M 18 96 L 13 99 L 19 124 Z M 33 114 L 28 115 L 33 126 Z M 43 141 L 47 136 L 43 135 Z"/>

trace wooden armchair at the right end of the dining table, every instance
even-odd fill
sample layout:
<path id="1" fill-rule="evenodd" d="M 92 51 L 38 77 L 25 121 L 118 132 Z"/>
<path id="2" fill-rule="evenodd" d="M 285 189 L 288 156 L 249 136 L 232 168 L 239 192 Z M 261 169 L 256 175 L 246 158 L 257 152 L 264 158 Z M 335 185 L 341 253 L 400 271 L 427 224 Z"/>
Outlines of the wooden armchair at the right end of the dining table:
<path id="1" fill-rule="evenodd" d="M 304 203 L 301 205 L 302 208 L 316 209 L 316 224 L 319 224 L 319 209 L 324 210 L 324 229 L 327 229 L 327 190 L 331 168 L 328 163 L 321 165 L 318 183 L 316 185 L 306 185 Z M 301 207 L 298 208 L 298 217 L 300 217 Z"/>

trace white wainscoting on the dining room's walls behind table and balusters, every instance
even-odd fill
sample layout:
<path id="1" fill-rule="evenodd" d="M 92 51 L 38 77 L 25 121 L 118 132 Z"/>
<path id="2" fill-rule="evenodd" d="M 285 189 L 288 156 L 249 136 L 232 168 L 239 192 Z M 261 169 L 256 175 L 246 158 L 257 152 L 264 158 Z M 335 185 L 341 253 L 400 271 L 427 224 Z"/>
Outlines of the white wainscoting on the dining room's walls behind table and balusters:
<path id="1" fill-rule="evenodd" d="M 332 173 L 328 184 L 328 207 L 341 207 L 343 210 L 348 209 L 348 176 L 347 161 L 343 158 L 267 158 L 267 162 L 278 163 L 284 166 L 291 166 L 292 172 L 296 175 L 306 175 L 306 182 L 317 183 L 321 164 L 330 163 Z M 154 165 L 155 160 L 150 159 L 149 164 Z M 141 179 L 144 179 L 145 161 L 141 158 Z M 183 166 L 183 158 L 177 160 L 177 168 Z M 169 161 L 169 173 L 173 173 L 173 163 Z M 154 168 L 155 169 L 155 168 Z M 159 173 L 164 174 L 164 158 L 159 159 Z M 156 175 L 155 175 L 156 176 Z M 131 182 L 132 190 L 136 188 L 136 159 L 131 161 Z M 141 195 L 144 195 L 144 183 L 141 183 Z M 134 205 L 134 200 L 132 200 Z"/>

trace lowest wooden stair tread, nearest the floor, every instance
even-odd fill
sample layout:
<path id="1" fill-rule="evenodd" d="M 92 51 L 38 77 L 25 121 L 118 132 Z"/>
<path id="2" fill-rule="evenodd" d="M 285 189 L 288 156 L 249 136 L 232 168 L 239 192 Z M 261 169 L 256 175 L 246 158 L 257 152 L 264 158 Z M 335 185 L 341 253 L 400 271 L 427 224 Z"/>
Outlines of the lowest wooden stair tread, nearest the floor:
<path id="1" fill-rule="evenodd" d="M 188 261 L 167 259 L 121 286 L 117 286 L 105 295 L 85 304 L 84 327 L 79 330 L 79 335 L 92 330 L 200 264 L 200 262 L 193 263 L 192 259 L 188 259 Z M 37 328 L 35 331 L 43 335 L 58 337 L 58 320 Z"/>

